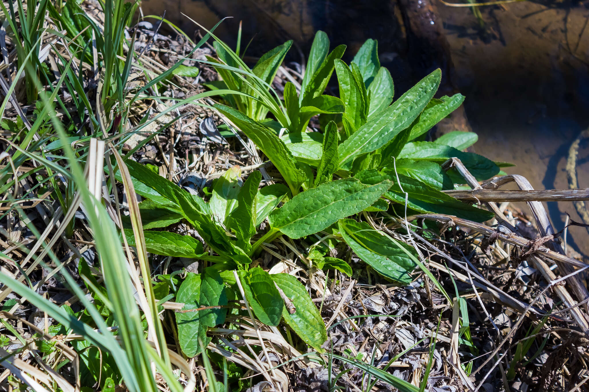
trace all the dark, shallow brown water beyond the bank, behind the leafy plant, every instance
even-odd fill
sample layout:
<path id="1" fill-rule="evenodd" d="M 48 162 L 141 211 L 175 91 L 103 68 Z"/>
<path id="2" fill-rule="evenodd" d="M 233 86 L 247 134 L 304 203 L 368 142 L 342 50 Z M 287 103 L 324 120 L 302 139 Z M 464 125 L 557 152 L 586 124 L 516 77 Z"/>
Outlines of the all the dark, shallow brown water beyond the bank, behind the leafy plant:
<path id="1" fill-rule="evenodd" d="M 400 1 L 417 8 L 425 4 Z M 308 53 L 314 32 L 322 29 L 332 47 L 348 45 L 344 59 L 349 61 L 366 38 L 378 39 L 381 62 L 391 70 L 396 96 L 438 66 L 453 69 L 452 80 L 442 87 L 444 93 L 454 89 L 466 96 L 466 116 L 479 135 L 475 151 L 515 163 L 505 171 L 527 177 L 535 188 L 567 188 L 568 148 L 589 126 L 589 2 L 483 7 L 481 33 L 471 9 L 433 1 L 434 12 L 419 16 L 427 22 L 420 28 L 433 22 L 431 31 L 420 32 L 429 40 L 408 33 L 403 26 L 408 16 L 392 1 L 144 0 L 143 5 L 145 14 L 161 15 L 167 9 L 166 17 L 188 31 L 193 25 L 180 12 L 207 27 L 223 16 L 236 16 L 217 33 L 234 42 L 242 19 L 243 41 L 253 38 L 250 55 L 294 39 L 290 59 L 300 61 L 299 53 Z M 449 64 L 444 55 L 448 52 Z M 588 157 L 585 141 L 578 161 L 581 187 L 589 187 Z M 564 226 L 565 212 L 580 221 L 572 203 L 546 205 L 556 230 Z M 568 244 L 589 255 L 584 228 L 571 227 Z"/>

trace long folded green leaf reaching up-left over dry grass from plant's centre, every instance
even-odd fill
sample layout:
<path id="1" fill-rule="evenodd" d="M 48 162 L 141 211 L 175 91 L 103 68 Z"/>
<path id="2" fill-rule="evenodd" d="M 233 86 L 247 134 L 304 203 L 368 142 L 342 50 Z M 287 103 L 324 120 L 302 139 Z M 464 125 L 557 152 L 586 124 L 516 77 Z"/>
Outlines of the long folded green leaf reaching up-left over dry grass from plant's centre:
<path id="1" fill-rule="evenodd" d="M 300 185 L 307 179 L 305 173 L 298 169 L 293 155 L 284 146 L 282 140 L 266 126 L 256 122 L 229 106 L 217 103 L 214 108 L 227 116 L 246 136 L 253 140 L 282 174 L 293 195 L 298 193 Z"/>

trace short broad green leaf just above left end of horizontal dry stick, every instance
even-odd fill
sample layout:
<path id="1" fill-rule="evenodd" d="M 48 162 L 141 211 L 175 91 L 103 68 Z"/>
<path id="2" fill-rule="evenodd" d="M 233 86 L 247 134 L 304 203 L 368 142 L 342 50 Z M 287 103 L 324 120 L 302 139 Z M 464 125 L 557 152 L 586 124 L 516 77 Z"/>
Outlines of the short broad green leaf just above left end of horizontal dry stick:
<path id="1" fill-rule="evenodd" d="M 393 179 L 395 179 L 395 169 L 399 174 L 413 177 L 416 180 L 425 182 L 427 185 L 439 190 L 454 189 L 454 183 L 446 174 L 444 169 L 435 162 L 427 160 L 398 159 L 396 165 L 391 165 L 387 170 L 383 170 Z"/>

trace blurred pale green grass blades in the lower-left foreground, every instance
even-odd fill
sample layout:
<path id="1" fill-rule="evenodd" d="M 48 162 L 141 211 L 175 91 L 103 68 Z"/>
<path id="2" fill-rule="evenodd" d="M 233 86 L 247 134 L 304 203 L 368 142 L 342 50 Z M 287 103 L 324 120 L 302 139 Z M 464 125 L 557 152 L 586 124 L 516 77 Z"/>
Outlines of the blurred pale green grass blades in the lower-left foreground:
<path id="1" fill-rule="evenodd" d="M 44 103 L 49 108 L 52 102 L 47 99 L 44 93 L 41 93 Z M 59 137 L 62 141 L 65 140 L 66 135 L 61 127 L 61 123 L 58 122 L 55 117 L 54 110 L 49 110 L 52 118 L 52 124 L 57 130 Z M 144 340 L 144 327 L 141 324 L 140 311 L 135 303 L 133 293 L 130 287 L 133 285 L 131 279 L 126 273 L 124 266 L 127 263 L 127 259 L 124 256 L 123 247 L 121 247 L 118 238 L 115 235 L 114 223 L 110 217 L 108 217 L 104 207 L 97 203 L 94 195 L 90 193 L 87 183 L 84 179 L 81 167 L 75 160 L 74 152 L 67 147 L 64 148 L 65 155 L 71 162 L 71 170 L 69 173 L 70 180 L 75 180 L 78 184 L 77 192 L 80 193 L 81 198 L 85 206 L 88 206 L 88 219 L 95 232 L 95 243 L 97 245 L 98 253 L 100 254 L 102 272 L 104 273 L 104 279 L 107 286 L 107 296 L 99 296 L 101 301 L 105 303 L 112 311 L 114 320 L 118 326 L 118 336 L 123 343 L 123 347 L 117 341 L 117 338 L 110 333 L 101 333 L 95 331 L 91 325 L 88 325 L 76 317 L 74 314 L 68 313 L 67 309 L 59 308 L 55 304 L 42 299 L 39 294 L 35 293 L 28 287 L 16 282 L 6 274 L 0 274 L 0 280 L 10 289 L 19 295 L 26 297 L 28 301 L 37 306 L 39 309 L 47 311 L 55 320 L 57 320 L 62 326 L 67 329 L 80 334 L 84 340 L 88 341 L 92 346 L 98 347 L 101 350 L 107 351 L 112 354 L 112 358 L 117 363 L 118 371 L 125 380 L 125 384 L 130 390 L 133 391 L 148 391 L 157 390 L 155 383 L 154 374 L 151 373 L 151 364 L 157 364 L 158 370 L 161 374 L 166 377 L 168 385 L 174 390 L 179 390 L 179 384 L 174 380 L 174 376 L 171 373 L 170 360 L 167 356 L 167 347 L 160 346 L 156 349 L 159 353 L 154 350 L 147 341 Z M 34 226 L 30 226 L 31 230 L 36 232 Z M 40 237 L 39 233 L 36 233 L 37 237 Z M 114 240 L 114 242 L 113 242 Z M 51 252 L 53 261 L 61 268 L 61 263 Z M 105 323 L 101 314 L 98 310 L 85 298 L 85 294 L 77 286 L 76 282 L 68 273 L 62 275 L 65 281 L 68 283 L 70 289 L 77 294 L 78 298 L 84 303 L 85 309 L 91 315 L 91 321 L 95 324 L 98 329 L 102 331 L 108 331 L 107 323 Z M 148 283 L 145 284 L 147 288 L 145 292 L 149 295 Z M 100 294 L 100 290 L 96 290 L 97 294 Z M 165 344 L 161 331 L 157 331 L 157 309 L 152 308 L 151 313 L 147 308 L 143 308 L 143 311 L 147 314 L 155 314 L 154 321 L 155 331 L 154 336 L 156 342 L 160 341 Z M 156 313 L 153 313 L 156 311 Z M 153 316 L 151 316 L 153 317 Z M 90 321 L 90 320 L 88 320 Z M 163 350 L 162 350 L 163 349 Z M 160 357 L 161 355 L 161 357 Z M 181 389 L 180 389 L 181 390 Z"/>

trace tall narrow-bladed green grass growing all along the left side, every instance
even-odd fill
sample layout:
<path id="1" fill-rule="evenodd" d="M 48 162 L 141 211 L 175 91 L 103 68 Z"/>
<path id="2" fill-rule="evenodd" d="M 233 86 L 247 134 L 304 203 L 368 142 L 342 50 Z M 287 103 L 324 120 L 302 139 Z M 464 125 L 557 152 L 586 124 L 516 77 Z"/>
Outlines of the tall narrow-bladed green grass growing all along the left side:
<path id="1" fill-rule="evenodd" d="M 128 135 L 117 135 L 116 132 L 113 132 L 115 135 L 109 136 L 108 129 L 112 131 L 121 129 L 119 125 L 122 116 L 119 116 L 117 120 L 117 116 L 110 118 L 110 113 L 111 109 L 119 110 L 118 113 L 124 112 L 124 110 L 121 112 L 121 106 L 114 108 L 117 104 L 112 103 L 112 100 L 119 99 L 122 105 L 124 100 L 122 92 L 127 93 L 125 83 L 134 59 L 134 53 L 132 51 L 126 53 L 127 58 L 124 61 L 121 61 L 117 56 L 125 54 L 123 52 L 125 39 L 122 24 L 125 24 L 128 16 L 131 15 L 133 5 L 124 4 L 123 1 L 113 2 L 111 0 L 101 3 L 107 19 L 105 24 L 107 34 L 104 41 L 98 42 L 100 49 L 98 55 L 100 61 L 104 62 L 97 63 L 107 66 L 107 63 L 110 62 L 111 71 L 108 75 L 112 75 L 113 79 L 110 79 L 110 82 L 107 81 L 107 85 L 110 83 L 112 86 L 114 83 L 115 87 L 104 89 L 102 96 L 100 96 L 99 91 L 99 98 L 103 100 L 98 99 L 98 108 L 94 108 L 94 105 L 88 102 L 87 91 L 82 88 L 83 74 L 80 71 L 82 67 L 80 66 L 77 72 L 72 71 L 72 68 L 74 68 L 72 64 L 75 59 L 79 59 L 81 65 L 83 65 L 84 61 L 93 60 L 92 57 L 88 58 L 87 56 L 90 41 L 80 41 L 85 37 L 84 33 L 89 33 L 88 27 L 90 24 L 85 22 L 87 15 L 85 13 L 75 14 L 75 12 L 81 12 L 81 8 L 73 1 L 69 1 L 65 5 L 55 5 L 58 6 L 57 9 L 54 4 L 47 1 L 29 1 L 26 6 L 21 1 L 18 1 L 17 19 L 13 3 L 9 2 L 8 8 L 11 9 L 10 12 L 6 10 L 4 5 L 2 5 L 2 9 L 4 15 L 9 15 L 7 21 L 11 25 L 12 33 L 15 35 L 12 42 L 16 42 L 17 46 L 18 72 L 15 81 L 8 88 L 0 112 L 4 115 L 8 100 L 11 99 L 11 94 L 15 91 L 19 76 L 23 72 L 26 75 L 27 99 L 29 102 L 39 99 L 35 102 L 36 109 L 32 116 L 32 123 L 28 123 L 24 115 L 16 121 L 2 120 L 2 127 L 11 131 L 9 139 L 2 140 L 14 152 L 12 156 L 3 153 L 2 158 L 9 156 L 10 162 L 10 165 L 2 167 L 0 175 L 2 179 L 7 180 L 2 182 L 2 195 L 5 196 L 3 202 L 9 205 L 8 210 L 2 210 L 2 218 L 5 219 L 7 215 L 14 214 L 24 219 L 26 211 L 20 207 L 20 203 L 22 201 L 26 202 L 27 197 L 31 197 L 39 189 L 44 188 L 48 189 L 48 195 L 55 197 L 54 200 L 59 202 L 61 207 L 61 210 L 58 208 L 55 211 L 54 219 L 60 219 L 61 214 L 64 216 L 62 223 L 55 226 L 57 232 L 54 235 L 52 234 L 52 239 L 48 243 L 45 243 L 44 239 L 53 229 L 53 223 L 49 223 L 47 230 L 41 234 L 30 220 L 23 220 L 38 239 L 34 250 L 31 252 L 27 247 L 18 244 L 18 249 L 27 254 L 24 262 L 22 260 L 13 260 L 4 253 L 2 253 L 2 257 L 16 266 L 19 266 L 20 263 L 25 265 L 29 260 L 32 260 L 32 263 L 27 267 L 26 271 L 19 267 L 21 276 L 18 279 L 4 272 L 0 274 L 0 281 L 5 284 L 2 287 L 0 296 L 4 299 L 11 291 L 14 291 L 14 293 L 22 297 L 23 301 L 26 299 L 39 310 L 47 312 L 49 317 L 52 317 L 58 323 L 51 326 L 49 330 L 51 334 L 74 333 L 80 336 L 79 340 L 72 343 L 74 353 L 77 353 L 82 363 L 80 374 L 75 374 L 75 376 L 82 377 L 82 382 L 86 388 L 97 384 L 103 390 L 114 390 L 114 383 L 120 384 L 124 382 L 126 388 L 132 391 L 154 391 L 158 388 L 158 382 L 161 382 L 155 377 L 155 371 L 157 371 L 166 380 L 167 387 L 170 390 L 182 390 L 177 382 L 177 377 L 173 374 L 172 363 L 180 368 L 184 364 L 178 361 L 177 357 L 172 356 L 173 359 L 170 359 L 170 352 L 166 346 L 166 339 L 158 317 L 154 289 L 151 285 L 150 267 L 146 263 L 143 227 L 138 216 L 138 210 L 133 210 L 133 203 L 131 202 L 131 227 L 133 227 L 132 231 L 137 234 L 134 237 L 137 239 L 134 245 L 138 249 L 137 265 L 140 267 L 141 277 L 137 273 L 128 273 L 133 272 L 135 269 L 133 257 L 127 259 L 127 256 L 131 256 L 128 252 L 127 256 L 125 256 L 125 250 L 128 250 L 128 247 L 121 246 L 114 222 L 101 203 L 100 195 L 102 192 L 98 192 L 101 189 L 99 188 L 95 192 L 89 190 L 89 185 L 95 187 L 95 184 L 91 181 L 90 184 L 88 183 L 86 175 L 84 175 L 80 166 L 80 161 L 85 161 L 87 173 L 95 175 L 97 172 L 102 172 L 102 163 L 100 163 L 102 161 L 98 159 L 98 150 L 92 148 L 92 145 L 96 145 L 94 143 L 96 139 L 92 138 L 92 136 L 101 136 L 106 142 L 114 143 L 114 145 L 120 145 L 123 136 L 128 137 Z M 64 8 L 59 8 L 61 6 Z M 55 23 L 58 25 L 61 24 L 62 27 L 69 28 L 65 28 L 65 34 L 57 33 L 57 37 L 63 39 L 62 42 L 65 45 L 69 45 L 67 49 L 70 54 L 74 53 L 74 56 L 71 56 L 70 59 L 64 59 L 60 51 L 55 50 L 55 52 L 52 52 L 55 49 L 52 46 L 55 40 L 45 43 L 43 47 L 39 46 L 43 33 L 49 30 L 48 28 L 42 28 L 43 23 L 50 20 L 48 15 L 57 19 Z M 99 35 L 102 35 L 102 32 Z M 207 38 L 199 45 L 202 45 Z M 21 41 L 22 47 L 19 47 Z M 40 48 L 44 52 L 39 52 Z M 54 60 L 57 66 L 55 71 L 58 73 L 58 78 L 49 77 L 48 73 L 45 72 L 47 64 L 44 62 L 44 56 L 47 56 L 47 53 L 55 56 Z M 108 57 L 109 53 L 110 58 Z M 94 58 L 94 60 L 98 61 L 97 58 Z M 167 75 L 173 73 L 180 65 L 181 62 L 162 75 L 152 79 L 144 86 L 144 90 L 155 83 L 164 81 Z M 121 66 L 123 66 L 124 71 L 121 71 Z M 112 69 L 115 69 L 116 72 L 112 71 Z M 121 76 L 121 72 L 123 76 Z M 144 90 L 139 89 L 135 98 Z M 64 91 L 71 96 L 71 104 L 74 106 L 75 112 L 80 114 L 80 118 L 74 119 L 74 116 L 70 116 L 70 112 L 63 106 L 61 92 Z M 81 98 L 78 99 L 78 97 Z M 13 100 L 12 102 L 16 101 Z M 58 115 L 55 102 L 61 106 L 61 109 L 64 109 L 61 116 Z M 106 105 L 108 112 L 105 111 L 104 105 Z M 71 136 L 72 129 L 77 128 L 77 121 L 84 124 L 87 120 L 91 122 L 91 129 L 93 129 L 92 125 L 95 125 L 100 130 L 91 132 L 90 135 L 84 135 L 82 132 L 83 136 Z M 140 122 L 140 125 L 146 126 L 152 121 L 145 118 Z M 81 129 L 88 131 L 83 127 Z M 88 146 L 89 140 L 90 146 Z M 72 141 L 85 142 L 85 144 L 74 150 L 70 146 Z M 122 162 L 114 145 L 110 145 L 112 149 L 107 152 L 107 158 L 114 158 L 113 162 L 116 162 L 116 159 Z M 59 155 L 60 150 L 62 150 L 62 155 Z M 104 157 L 100 156 L 100 158 Z M 32 162 L 37 167 L 34 170 L 18 175 L 14 165 L 20 167 L 27 162 Z M 108 162 L 107 166 L 110 166 L 110 163 Z M 97 165 L 99 166 L 97 167 Z M 124 183 L 127 196 L 134 195 L 133 185 L 128 182 L 128 173 L 125 170 L 122 170 L 122 172 L 120 179 Z M 31 179 L 34 179 L 31 182 L 35 186 L 31 189 L 25 189 L 24 194 L 19 197 L 21 189 L 19 189 L 18 183 Z M 114 185 L 114 178 L 111 178 L 112 185 Z M 12 195 L 6 194 L 6 190 L 11 189 L 11 187 L 14 189 L 14 193 Z M 72 236 L 74 213 L 80 203 L 85 208 L 84 219 L 87 220 L 88 227 L 91 228 L 93 244 L 100 257 L 100 267 L 98 269 L 91 271 L 83 259 L 79 264 L 80 277 L 92 294 L 94 303 L 87 299 L 85 293 L 78 286 L 80 282 L 76 282 L 67 273 L 64 264 L 60 262 L 59 257 L 52 249 L 55 241 L 61 238 L 61 233 L 65 232 L 65 243 L 77 252 L 77 249 L 71 245 L 68 239 Z M 114 243 L 112 242 L 113 239 Z M 39 250 L 38 254 L 37 250 Z M 57 266 L 55 269 L 52 269 L 45 262 L 45 256 L 48 256 L 51 262 Z M 126 267 L 128 263 L 133 264 L 133 266 L 129 266 L 129 269 Z M 42 266 L 50 273 L 48 277 L 34 285 L 28 275 L 36 266 Z M 104 279 L 102 284 L 105 287 L 102 287 L 102 284 L 99 284 L 98 280 L 95 279 L 94 275 L 96 274 Z M 74 313 L 68 306 L 57 307 L 54 303 L 43 299 L 35 292 L 51 276 L 57 276 L 59 279 L 64 280 L 64 284 L 81 301 L 84 307 L 83 311 Z M 143 278 L 143 281 L 141 278 Z M 27 286 L 21 283 L 24 280 L 27 281 Z M 139 304 L 137 304 L 136 298 Z M 19 305 L 19 303 L 11 304 L 11 301 L 7 301 L 4 304 L 7 308 L 3 310 L 14 311 Z M 15 336 L 19 336 L 19 334 L 16 333 Z M 49 361 L 55 359 L 56 350 L 59 348 L 55 346 L 55 341 L 44 343 L 41 337 L 35 337 L 33 343 L 40 345 L 41 352 L 46 354 L 44 359 Z M 7 363 L 12 363 L 12 357 L 16 354 L 18 354 L 18 351 L 5 357 L 3 361 L 6 360 Z M 177 356 L 177 354 L 175 355 Z M 75 356 L 68 356 L 67 360 L 55 363 L 55 366 L 59 368 L 69 362 L 74 363 L 74 359 L 77 361 Z M 184 371 L 187 374 L 190 373 L 186 372 L 186 368 L 184 368 Z M 28 378 L 21 379 L 25 383 L 29 382 Z M 59 387 L 64 387 L 65 390 L 67 381 L 59 378 L 57 380 L 58 384 L 60 382 L 65 383 L 59 384 Z M 190 374 L 188 386 L 190 387 L 191 384 L 194 385 L 195 383 L 194 377 Z M 38 384 L 32 386 L 29 383 L 29 386 L 35 390 L 45 390 Z M 49 387 L 56 388 L 57 386 L 51 385 Z M 73 387 L 71 388 L 73 390 Z"/>

